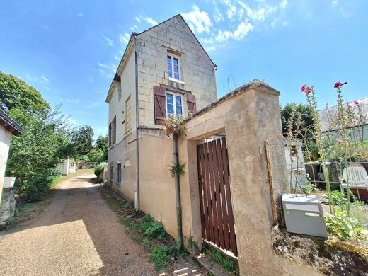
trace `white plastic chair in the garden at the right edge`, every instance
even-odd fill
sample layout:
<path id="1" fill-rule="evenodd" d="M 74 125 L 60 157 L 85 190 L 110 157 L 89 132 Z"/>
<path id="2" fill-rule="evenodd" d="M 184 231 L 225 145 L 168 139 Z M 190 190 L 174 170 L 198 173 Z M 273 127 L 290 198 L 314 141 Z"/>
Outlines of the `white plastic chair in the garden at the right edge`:
<path id="1" fill-rule="evenodd" d="M 358 166 L 348 166 L 343 170 L 343 180 L 341 181 L 341 192 L 344 193 L 344 188 L 368 190 L 368 175 L 365 168 Z"/>

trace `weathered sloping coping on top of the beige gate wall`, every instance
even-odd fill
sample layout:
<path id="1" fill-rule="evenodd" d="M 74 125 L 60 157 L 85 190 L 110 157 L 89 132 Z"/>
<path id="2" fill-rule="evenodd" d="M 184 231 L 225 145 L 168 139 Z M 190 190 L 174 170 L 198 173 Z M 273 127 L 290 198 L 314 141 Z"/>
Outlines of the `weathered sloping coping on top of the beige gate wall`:
<path id="1" fill-rule="evenodd" d="M 280 92 L 277 91 L 275 88 L 269 86 L 263 81 L 260 81 L 259 79 L 253 79 L 253 81 L 249 81 L 247 84 L 244 84 L 243 86 L 240 86 L 236 88 L 234 91 L 231 91 L 230 93 L 227 93 L 225 96 L 222 96 L 222 98 L 219 98 L 214 103 L 211 103 L 210 105 L 207 105 L 205 108 L 202 108 L 197 113 L 193 114 L 192 116 L 188 117 L 188 120 L 190 120 L 193 117 L 197 117 L 198 115 L 201 115 L 202 113 L 206 113 L 207 110 L 210 110 L 214 108 L 216 105 L 219 105 L 219 103 L 222 103 L 223 101 L 227 100 L 228 98 L 234 98 L 235 96 L 238 96 L 250 89 L 255 89 L 258 91 L 263 91 L 265 93 L 270 93 L 275 96 L 280 96 Z"/>

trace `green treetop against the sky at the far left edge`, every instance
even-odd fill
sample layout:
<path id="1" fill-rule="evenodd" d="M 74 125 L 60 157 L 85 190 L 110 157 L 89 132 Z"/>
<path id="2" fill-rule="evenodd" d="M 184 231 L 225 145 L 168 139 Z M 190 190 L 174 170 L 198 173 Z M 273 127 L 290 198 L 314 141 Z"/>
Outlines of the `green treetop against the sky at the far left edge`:
<path id="1" fill-rule="evenodd" d="M 22 108 L 33 115 L 45 114 L 50 105 L 32 86 L 29 86 L 11 74 L 0 71 L 0 108 L 10 111 L 13 108 Z"/>

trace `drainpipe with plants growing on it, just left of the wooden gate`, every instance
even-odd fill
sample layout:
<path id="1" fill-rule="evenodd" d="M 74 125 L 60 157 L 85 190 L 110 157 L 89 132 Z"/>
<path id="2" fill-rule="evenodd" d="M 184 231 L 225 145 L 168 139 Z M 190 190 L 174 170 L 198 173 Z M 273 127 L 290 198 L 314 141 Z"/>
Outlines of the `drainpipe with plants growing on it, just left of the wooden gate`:
<path id="1" fill-rule="evenodd" d="M 178 137 L 173 137 L 173 157 L 175 166 L 179 166 Z M 178 224 L 178 244 L 183 248 L 183 230 L 181 224 L 181 198 L 180 198 L 180 176 L 175 175 L 175 195 L 176 195 L 176 224 Z"/>

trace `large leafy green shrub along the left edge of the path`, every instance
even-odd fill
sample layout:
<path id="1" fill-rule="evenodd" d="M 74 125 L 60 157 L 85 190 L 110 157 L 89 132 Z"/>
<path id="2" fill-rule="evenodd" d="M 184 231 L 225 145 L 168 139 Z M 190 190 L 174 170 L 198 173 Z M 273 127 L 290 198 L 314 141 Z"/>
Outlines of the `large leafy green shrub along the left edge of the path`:
<path id="1" fill-rule="evenodd" d="M 64 156 L 67 139 L 65 120 L 58 111 L 31 115 L 13 108 L 9 115 L 23 127 L 23 135 L 13 137 L 8 156 L 7 176 L 16 176 L 16 192 L 39 200 L 59 172 L 55 169 Z"/>

